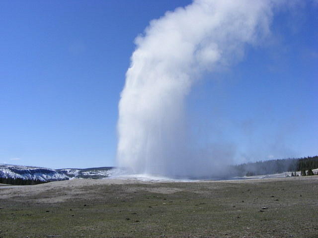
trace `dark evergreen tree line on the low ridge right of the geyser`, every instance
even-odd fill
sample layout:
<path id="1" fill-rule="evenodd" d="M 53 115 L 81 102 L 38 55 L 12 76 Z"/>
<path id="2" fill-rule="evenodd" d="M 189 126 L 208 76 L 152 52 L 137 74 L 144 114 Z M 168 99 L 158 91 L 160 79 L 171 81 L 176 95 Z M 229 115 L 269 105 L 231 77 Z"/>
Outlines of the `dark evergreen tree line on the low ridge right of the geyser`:
<path id="1" fill-rule="evenodd" d="M 244 163 L 232 167 L 232 175 L 234 176 L 253 176 L 278 174 L 283 172 L 301 171 L 302 175 L 314 175 L 313 169 L 318 168 L 318 156 L 305 158 L 292 158 L 281 160 L 258 161 L 254 163 Z"/>

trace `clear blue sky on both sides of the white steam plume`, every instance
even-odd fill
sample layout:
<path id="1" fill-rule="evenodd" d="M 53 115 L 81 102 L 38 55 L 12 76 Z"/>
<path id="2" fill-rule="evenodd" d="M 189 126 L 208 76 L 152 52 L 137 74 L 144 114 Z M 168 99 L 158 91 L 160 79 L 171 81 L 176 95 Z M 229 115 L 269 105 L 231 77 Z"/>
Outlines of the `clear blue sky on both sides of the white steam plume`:
<path id="1" fill-rule="evenodd" d="M 114 166 L 134 39 L 190 2 L 0 1 L 0 163 Z M 279 12 L 269 41 L 204 75 L 188 97 L 202 143 L 235 144 L 239 162 L 318 154 L 317 12 Z"/>

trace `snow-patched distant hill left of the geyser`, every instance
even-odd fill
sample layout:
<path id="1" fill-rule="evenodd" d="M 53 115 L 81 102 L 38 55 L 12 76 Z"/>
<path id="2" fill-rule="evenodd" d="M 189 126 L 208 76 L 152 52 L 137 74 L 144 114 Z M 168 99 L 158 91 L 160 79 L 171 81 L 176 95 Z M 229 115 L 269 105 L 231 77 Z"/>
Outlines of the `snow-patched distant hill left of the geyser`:
<path id="1" fill-rule="evenodd" d="M 102 179 L 110 176 L 112 169 L 113 167 L 53 170 L 33 166 L 0 164 L 0 178 L 38 179 L 41 181 L 57 181 L 74 178 Z"/>

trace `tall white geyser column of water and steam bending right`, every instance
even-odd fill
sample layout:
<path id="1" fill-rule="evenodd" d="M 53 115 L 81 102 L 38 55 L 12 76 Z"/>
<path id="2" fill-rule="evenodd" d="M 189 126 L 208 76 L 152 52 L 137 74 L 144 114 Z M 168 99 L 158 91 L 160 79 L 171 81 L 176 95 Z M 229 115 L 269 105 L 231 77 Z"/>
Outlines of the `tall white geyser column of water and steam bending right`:
<path id="1" fill-rule="evenodd" d="M 205 71 L 239 60 L 269 32 L 271 0 L 195 0 L 136 38 L 119 102 L 118 166 L 136 174 L 211 175 L 223 158 L 191 148 L 185 97 Z"/>

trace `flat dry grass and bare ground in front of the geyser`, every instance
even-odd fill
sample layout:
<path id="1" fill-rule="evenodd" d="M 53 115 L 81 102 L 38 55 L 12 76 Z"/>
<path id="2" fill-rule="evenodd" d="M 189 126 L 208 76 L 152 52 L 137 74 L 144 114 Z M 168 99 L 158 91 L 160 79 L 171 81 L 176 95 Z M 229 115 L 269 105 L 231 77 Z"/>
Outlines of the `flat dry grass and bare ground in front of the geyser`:
<path id="1" fill-rule="evenodd" d="M 0 186 L 0 238 L 318 238 L 318 176 Z"/>

